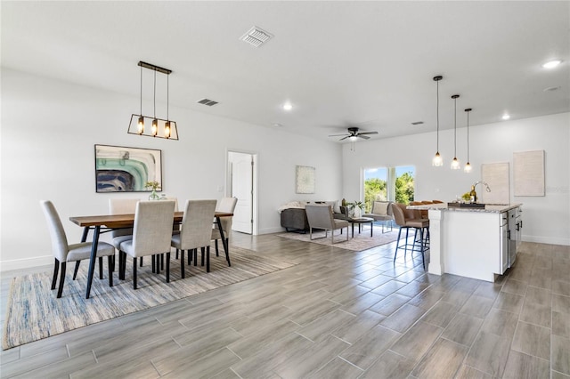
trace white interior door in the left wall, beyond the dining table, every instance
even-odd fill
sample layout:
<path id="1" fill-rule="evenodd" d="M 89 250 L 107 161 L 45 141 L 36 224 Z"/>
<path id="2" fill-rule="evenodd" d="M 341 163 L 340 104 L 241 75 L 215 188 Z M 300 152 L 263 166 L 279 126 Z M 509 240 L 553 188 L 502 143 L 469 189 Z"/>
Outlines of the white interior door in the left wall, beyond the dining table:
<path id="1" fill-rule="evenodd" d="M 233 212 L 232 230 L 252 234 L 253 230 L 253 156 L 230 153 L 232 197 L 238 198 Z"/>

